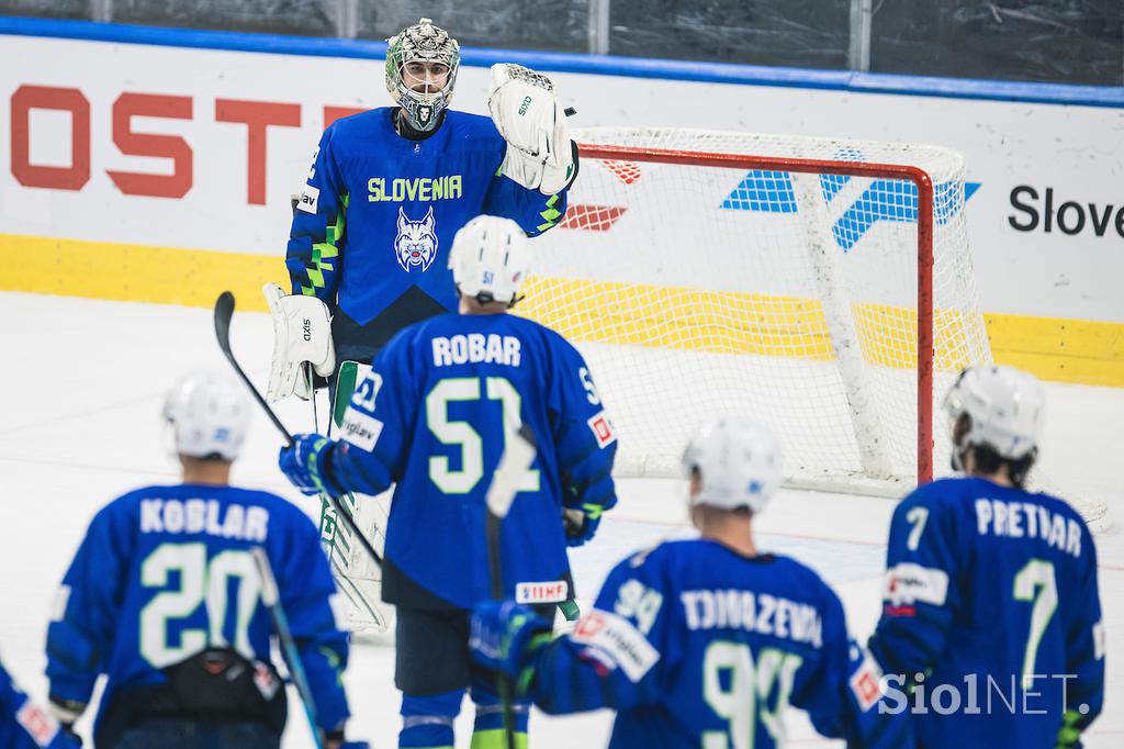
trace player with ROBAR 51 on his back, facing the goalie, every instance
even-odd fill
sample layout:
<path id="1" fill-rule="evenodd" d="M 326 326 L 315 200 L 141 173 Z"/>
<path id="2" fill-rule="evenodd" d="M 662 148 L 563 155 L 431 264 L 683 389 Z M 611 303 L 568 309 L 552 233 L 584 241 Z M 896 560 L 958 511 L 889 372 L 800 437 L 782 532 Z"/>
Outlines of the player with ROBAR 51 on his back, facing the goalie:
<path id="1" fill-rule="evenodd" d="M 538 453 L 502 525 L 506 595 L 552 615 L 571 594 L 566 545 L 592 538 L 616 503 L 615 437 L 581 354 L 553 331 L 504 314 L 519 299 L 528 252 L 514 222 L 469 222 L 450 256 L 460 314 L 413 325 L 387 344 L 355 390 L 343 442 L 307 434 L 281 451 L 282 470 L 308 494 L 377 494 L 397 484 L 382 596 L 398 607 L 401 747 L 453 746 L 470 685 L 469 613 L 490 595 L 484 496 L 509 435 L 527 424 Z M 500 746 L 496 689 L 471 686 L 472 746 Z M 524 706 L 516 729 L 525 734 L 526 725 Z"/>

